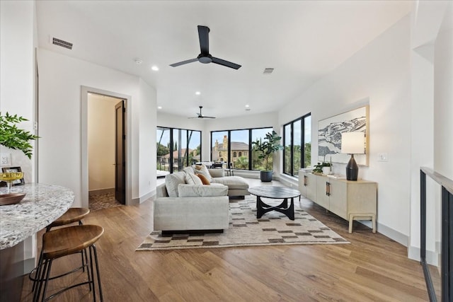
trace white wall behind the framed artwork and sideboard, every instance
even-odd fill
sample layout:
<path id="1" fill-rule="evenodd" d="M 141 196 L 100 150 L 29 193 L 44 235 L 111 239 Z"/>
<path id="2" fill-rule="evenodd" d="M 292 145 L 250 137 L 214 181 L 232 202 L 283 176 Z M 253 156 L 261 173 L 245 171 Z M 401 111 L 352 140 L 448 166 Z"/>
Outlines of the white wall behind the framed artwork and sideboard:
<path id="1" fill-rule="evenodd" d="M 379 232 L 407 244 L 411 154 L 410 18 L 403 18 L 279 112 L 285 124 L 311 112 L 312 165 L 318 121 L 369 103 L 369 167 L 359 177 L 378 182 Z M 386 152 L 389 161 L 377 161 Z M 333 164 L 345 174 L 345 165 Z"/>

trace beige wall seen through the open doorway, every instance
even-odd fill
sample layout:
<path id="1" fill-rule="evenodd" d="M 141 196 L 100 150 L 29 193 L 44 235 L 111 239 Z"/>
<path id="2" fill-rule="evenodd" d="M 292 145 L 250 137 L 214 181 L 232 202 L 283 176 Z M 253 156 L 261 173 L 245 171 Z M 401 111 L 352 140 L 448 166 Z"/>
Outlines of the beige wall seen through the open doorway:
<path id="1" fill-rule="evenodd" d="M 88 190 L 115 188 L 115 105 L 119 99 L 88 95 Z"/>

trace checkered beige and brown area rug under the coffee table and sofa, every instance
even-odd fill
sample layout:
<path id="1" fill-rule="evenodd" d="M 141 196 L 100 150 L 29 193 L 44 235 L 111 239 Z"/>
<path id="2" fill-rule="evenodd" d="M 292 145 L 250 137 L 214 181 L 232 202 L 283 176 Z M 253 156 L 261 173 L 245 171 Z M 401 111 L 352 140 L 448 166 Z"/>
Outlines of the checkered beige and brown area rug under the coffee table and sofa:
<path id="1" fill-rule="evenodd" d="M 263 202 L 277 205 L 273 199 Z M 230 202 L 229 228 L 224 233 L 173 234 L 161 236 L 152 231 L 137 250 L 173 250 L 184 248 L 227 248 L 253 245 L 297 245 L 349 243 L 299 207 L 294 200 L 294 221 L 277 211 L 256 218 L 256 197 L 246 196 Z"/>

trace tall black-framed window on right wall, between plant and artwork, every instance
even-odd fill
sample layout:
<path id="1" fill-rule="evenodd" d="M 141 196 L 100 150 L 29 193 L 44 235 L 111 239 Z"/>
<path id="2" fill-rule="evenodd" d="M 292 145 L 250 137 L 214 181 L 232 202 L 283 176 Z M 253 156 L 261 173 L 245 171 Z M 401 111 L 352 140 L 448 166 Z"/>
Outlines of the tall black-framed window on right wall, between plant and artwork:
<path id="1" fill-rule="evenodd" d="M 311 114 L 283 126 L 283 173 L 299 175 L 300 168 L 311 165 Z"/>

